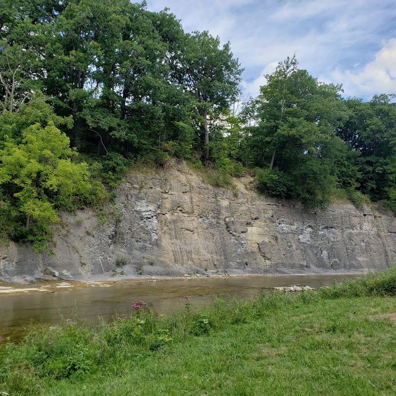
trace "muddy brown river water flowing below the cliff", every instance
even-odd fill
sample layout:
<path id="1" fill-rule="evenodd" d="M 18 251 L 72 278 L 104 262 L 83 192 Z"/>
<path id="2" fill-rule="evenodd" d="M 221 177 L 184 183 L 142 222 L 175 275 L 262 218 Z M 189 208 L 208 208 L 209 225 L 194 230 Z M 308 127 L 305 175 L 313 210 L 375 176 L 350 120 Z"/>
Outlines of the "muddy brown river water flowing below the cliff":
<path id="1" fill-rule="evenodd" d="M 224 278 L 163 279 L 157 281 L 129 280 L 95 283 L 44 282 L 33 285 L 0 283 L 0 335 L 18 338 L 29 323 L 54 324 L 72 316 L 73 306 L 78 316 L 87 322 L 98 322 L 98 316 L 111 320 L 130 315 L 131 303 L 141 300 L 151 303 L 158 314 L 166 315 L 185 304 L 189 297 L 193 306 L 223 298 L 251 299 L 264 289 L 279 286 L 306 285 L 320 287 L 348 275 L 246 276 Z"/>

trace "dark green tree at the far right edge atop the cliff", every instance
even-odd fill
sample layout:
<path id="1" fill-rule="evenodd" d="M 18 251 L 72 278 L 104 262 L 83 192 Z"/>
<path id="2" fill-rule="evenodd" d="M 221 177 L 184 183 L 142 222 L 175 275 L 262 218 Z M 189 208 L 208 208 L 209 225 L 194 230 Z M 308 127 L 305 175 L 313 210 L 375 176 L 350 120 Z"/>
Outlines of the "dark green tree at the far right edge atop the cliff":
<path id="1" fill-rule="evenodd" d="M 358 190 L 372 200 L 384 200 L 396 209 L 396 104 L 395 95 L 374 96 L 369 102 L 345 100 L 345 117 L 337 134 L 359 170 Z"/>

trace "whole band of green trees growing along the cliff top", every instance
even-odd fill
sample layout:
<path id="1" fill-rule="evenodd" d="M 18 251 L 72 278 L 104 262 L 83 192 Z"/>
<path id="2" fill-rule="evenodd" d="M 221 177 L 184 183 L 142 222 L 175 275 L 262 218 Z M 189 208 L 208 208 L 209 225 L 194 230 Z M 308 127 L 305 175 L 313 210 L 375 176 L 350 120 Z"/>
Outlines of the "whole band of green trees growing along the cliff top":
<path id="1" fill-rule="evenodd" d="M 171 157 L 220 187 L 248 171 L 259 192 L 308 208 L 347 197 L 396 210 L 394 95 L 345 99 L 289 57 L 246 98 L 230 43 L 184 32 L 166 9 L 0 5 L 1 236 L 42 250 L 58 209 L 100 205 L 131 163 Z"/>

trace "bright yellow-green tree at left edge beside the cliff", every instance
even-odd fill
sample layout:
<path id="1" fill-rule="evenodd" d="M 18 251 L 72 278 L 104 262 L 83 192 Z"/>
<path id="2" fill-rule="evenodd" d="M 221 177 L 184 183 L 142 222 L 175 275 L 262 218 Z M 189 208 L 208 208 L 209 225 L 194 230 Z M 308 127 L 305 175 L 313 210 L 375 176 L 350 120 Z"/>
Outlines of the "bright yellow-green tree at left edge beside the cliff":
<path id="1" fill-rule="evenodd" d="M 36 250 L 45 248 L 47 224 L 59 221 L 56 208 L 73 210 L 103 194 L 102 186 L 89 180 L 88 165 L 71 161 L 77 153 L 69 146 L 69 138 L 49 121 L 45 128 L 40 124 L 27 128 L 21 144 L 11 140 L 0 150 L 4 218 L 8 216 L 9 223 L 24 218 L 22 234 Z M 21 237 L 20 228 L 12 231 L 10 237 Z"/>

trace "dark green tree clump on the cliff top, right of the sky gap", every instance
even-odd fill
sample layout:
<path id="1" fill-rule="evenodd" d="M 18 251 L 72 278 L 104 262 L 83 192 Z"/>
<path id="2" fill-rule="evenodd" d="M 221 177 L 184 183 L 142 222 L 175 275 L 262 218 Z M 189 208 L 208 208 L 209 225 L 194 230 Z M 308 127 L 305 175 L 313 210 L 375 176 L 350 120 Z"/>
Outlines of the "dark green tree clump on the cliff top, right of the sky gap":
<path id="1" fill-rule="evenodd" d="M 319 83 L 295 57 L 266 79 L 244 113 L 257 123 L 248 129 L 254 162 L 268 167 L 257 172 L 257 190 L 324 210 L 341 188 L 356 207 L 370 198 L 392 207 L 392 96 L 343 100 L 341 86 Z"/>

